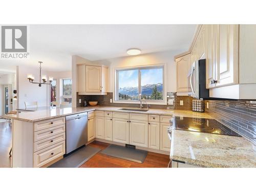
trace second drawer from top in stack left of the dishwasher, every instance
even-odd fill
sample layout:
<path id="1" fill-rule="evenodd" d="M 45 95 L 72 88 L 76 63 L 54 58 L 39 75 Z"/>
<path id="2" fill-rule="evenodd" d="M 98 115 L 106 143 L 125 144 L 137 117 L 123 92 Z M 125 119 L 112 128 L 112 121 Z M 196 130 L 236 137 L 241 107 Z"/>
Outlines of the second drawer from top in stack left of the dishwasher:
<path id="1" fill-rule="evenodd" d="M 65 132 L 65 130 L 66 130 L 66 124 L 62 124 L 62 125 L 45 129 L 45 130 L 34 132 L 34 142 L 63 133 Z"/>

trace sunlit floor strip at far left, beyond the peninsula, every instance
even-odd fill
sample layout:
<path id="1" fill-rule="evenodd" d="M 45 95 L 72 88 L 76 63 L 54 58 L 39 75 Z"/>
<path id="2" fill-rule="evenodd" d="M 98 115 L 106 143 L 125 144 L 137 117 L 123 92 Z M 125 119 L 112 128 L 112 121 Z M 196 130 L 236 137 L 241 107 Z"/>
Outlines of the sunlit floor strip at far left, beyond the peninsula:
<path id="1" fill-rule="evenodd" d="M 12 141 L 11 127 L 6 126 L 6 122 L 0 122 L 0 168 L 11 167 L 11 158 L 9 150 Z"/>

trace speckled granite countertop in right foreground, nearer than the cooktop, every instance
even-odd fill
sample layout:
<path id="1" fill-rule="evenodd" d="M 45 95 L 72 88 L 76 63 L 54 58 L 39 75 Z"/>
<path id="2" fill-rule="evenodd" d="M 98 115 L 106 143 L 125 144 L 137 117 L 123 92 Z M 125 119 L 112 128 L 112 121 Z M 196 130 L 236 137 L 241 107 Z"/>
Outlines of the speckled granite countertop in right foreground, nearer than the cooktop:
<path id="1" fill-rule="evenodd" d="M 173 130 L 170 158 L 199 167 L 256 167 L 256 146 L 243 137 Z"/>

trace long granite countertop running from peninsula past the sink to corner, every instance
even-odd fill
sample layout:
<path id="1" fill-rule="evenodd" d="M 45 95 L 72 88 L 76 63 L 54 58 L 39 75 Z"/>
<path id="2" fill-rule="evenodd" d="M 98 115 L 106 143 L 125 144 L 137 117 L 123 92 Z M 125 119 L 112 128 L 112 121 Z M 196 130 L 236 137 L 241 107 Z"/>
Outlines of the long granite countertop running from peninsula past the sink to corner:
<path id="1" fill-rule="evenodd" d="M 56 108 L 56 107 L 38 107 L 38 108 L 30 108 L 28 110 L 31 111 L 23 111 L 24 109 L 20 109 L 15 115 L 4 115 L 4 118 L 16 119 L 22 121 L 41 121 L 46 119 L 52 119 L 56 117 L 62 117 L 82 112 L 89 111 L 118 111 L 124 113 L 144 113 L 144 114 L 157 114 L 157 115 L 175 115 L 182 117 L 201 117 L 201 118 L 211 118 L 206 113 L 192 112 L 192 111 L 183 111 L 183 110 L 165 110 L 165 109 L 150 109 L 147 112 L 140 111 L 121 111 L 119 110 L 121 107 L 113 107 L 113 106 L 88 106 L 88 107 L 77 107 L 77 108 Z"/>

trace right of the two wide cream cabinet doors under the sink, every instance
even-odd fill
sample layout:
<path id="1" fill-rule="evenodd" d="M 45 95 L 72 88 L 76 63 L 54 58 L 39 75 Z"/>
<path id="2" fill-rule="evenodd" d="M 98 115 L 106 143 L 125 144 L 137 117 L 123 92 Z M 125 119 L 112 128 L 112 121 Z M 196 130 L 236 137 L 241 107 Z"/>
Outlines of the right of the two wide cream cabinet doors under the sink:
<path id="1" fill-rule="evenodd" d="M 148 147 L 148 122 L 131 120 L 130 122 L 130 144 Z"/>

